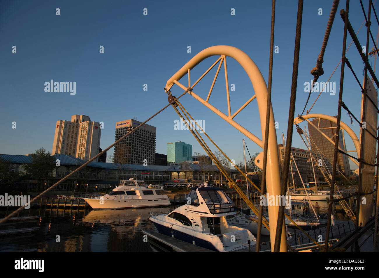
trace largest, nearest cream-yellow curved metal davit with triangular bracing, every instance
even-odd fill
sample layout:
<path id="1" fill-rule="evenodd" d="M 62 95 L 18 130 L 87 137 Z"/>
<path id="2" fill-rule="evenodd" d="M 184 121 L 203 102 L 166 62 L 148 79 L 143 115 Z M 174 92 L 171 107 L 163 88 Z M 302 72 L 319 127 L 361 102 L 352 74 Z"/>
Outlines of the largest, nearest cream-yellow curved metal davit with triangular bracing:
<path id="1" fill-rule="evenodd" d="M 211 56 L 220 56 L 218 60 L 194 83 L 191 85 L 190 71 L 196 67 L 204 59 Z M 230 109 L 230 94 L 229 94 L 229 84 L 228 84 L 228 75 L 227 75 L 227 66 L 226 66 L 226 57 L 232 57 L 235 59 L 246 71 L 247 75 L 250 78 L 250 81 L 253 85 L 255 95 L 252 96 L 240 109 L 238 109 L 235 113 L 232 114 Z M 213 80 L 213 84 L 211 85 L 210 92 L 208 94 L 207 99 L 203 99 L 200 96 L 196 95 L 192 90 L 194 86 L 218 63 L 219 67 Z M 220 110 L 216 109 L 213 105 L 209 103 L 209 98 L 213 89 L 213 85 L 215 84 L 216 78 L 218 76 L 219 70 L 221 68 L 221 64 L 224 63 L 225 70 L 225 79 L 226 79 L 226 92 L 227 92 L 227 107 L 228 107 L 228 115 L 222 113 Z M 188 87 L 181 84 L 179 80 L 188 74 Z M 227 121 L 227 123 L 231 124 L 233 127 L 238 129 L 244 135 L 246 135 L 249 139 L 254 141 L 258 146 L 263 148 L 263 142 L 265 140 L 265 126 L 266 126 L 266 107 L 267 107 L 267 86 L 266 82 L 263 79 L 262 73 L 258 69 L 257 65 L 252 61 L 252 59 L 243 51 L 239 50 L 236 47 L 228 46 L 228 45 L 217 45 L 213 47 L 208 47 L 198 54 L 196 54 L 191 60 L 189 60 L 180 70 L 177 71 L 170 79 L 168 79 L 166 83 L 166 90 L 170 90 L 174 84 L 177 84 L 183 90 L 188 90 L 189 95 L 193 96 L 200 103 L 204 104 L 210 110 L 219 115 L 222 119 Z M 242 127 L 240 124 L 236 123 L 233 118 L 240 113 L 253 99 L 257 99 L 258 110 L 260 115 L 261 129 L 262 129 L 262 140 L 257 136 L 249 132 L 247 129 Z M 272 106 L 270 107 L 270 124 L 269 125 L 269 135 L 268 135 L 268 154 L 267 154 L 267 172 L 266 172 L 266 187 L 267 194 L 269 196 L 280 196 L 280 167 L 279 167 L 279 157 L 278 157 L 278 149 L 277 149 L 277 140 L 276 140 L 276 129 L 274 128 L 274 113 Z M 277 216 L 279 212 L 279 206 L 269 206 L 268 214 L 269 214 L 269 228 L 270 228 L 270 239 L 271 239 L 271 250 L 274 249 L 275 242 L 275 233 L 276 233 L 276 225 L 277 225 Z M 280 251 L 287 251 L 287 238 L 285 234 L 285 226 L 283 223 L 282 229 L 282 239 L 280 244 Z"/>

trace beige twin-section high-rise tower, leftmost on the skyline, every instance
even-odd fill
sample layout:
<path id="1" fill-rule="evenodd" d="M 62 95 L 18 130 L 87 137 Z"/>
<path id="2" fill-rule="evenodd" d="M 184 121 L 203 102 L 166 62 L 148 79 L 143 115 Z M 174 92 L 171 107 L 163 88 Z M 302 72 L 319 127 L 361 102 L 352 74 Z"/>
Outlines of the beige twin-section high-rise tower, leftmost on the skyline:
<path id="1" fill-rule="evenodd" d="M 100 123 L 91 121 L 89 116 L 73 115 L 71 121 L 57 121 L 52 154 L 89 160 L 99 153 L 100 135 Z"/>

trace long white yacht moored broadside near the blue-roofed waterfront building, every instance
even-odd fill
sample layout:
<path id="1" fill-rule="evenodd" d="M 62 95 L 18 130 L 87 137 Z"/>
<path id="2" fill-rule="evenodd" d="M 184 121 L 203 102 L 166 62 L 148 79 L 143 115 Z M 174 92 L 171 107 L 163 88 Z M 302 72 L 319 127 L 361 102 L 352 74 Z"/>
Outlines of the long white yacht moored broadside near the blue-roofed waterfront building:
<path id="1" fill-rule="evenodd" d="M 114 188 L 109 194 L 95 198 L 83 198 L 93 209 L 122 209 L 158 207 L 170 205 L 170 199 L 163 195 L 163 186 L 160 189 L 146 188 L 140 186 L 138 182 L 143 180 L 121 180 L 120 185 Z M 158 191 L 158 193 L 157 193 Z"/>

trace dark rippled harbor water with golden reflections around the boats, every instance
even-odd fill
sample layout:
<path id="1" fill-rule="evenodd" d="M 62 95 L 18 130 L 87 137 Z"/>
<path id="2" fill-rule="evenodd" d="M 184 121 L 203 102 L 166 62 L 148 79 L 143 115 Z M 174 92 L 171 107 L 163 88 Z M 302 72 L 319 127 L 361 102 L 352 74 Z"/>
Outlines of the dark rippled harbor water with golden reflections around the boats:
<path id="1" fill-rule="evenodd" d="M 242 202 L 243 208 L 247 206 Z M 253 200 L 256 206 L 259 203 Z M 316 202 L 313 202 L 315 205 Z M 320 213 L 327 213 L 326 202 L 318 202 Z M 241 207 L 241 202 L 235 203 Z M 170 208 L 174 208 L 171 206 Z M 8 212 L 10 213 L 10 211 Z M 311 213 L 312 215 L 313 213 Z M 28 216 L 24 210 L 19 216 Z M 142 229 L 156 230 L 149 220 L 150 208 L 127 210 L 76 209 L 31 210 L 30 216 L 41 215 L 41 219 L 22 223 L 6 223 L 0 230 L 39 227 L 32 233 L 1 236 L 0 252 L 156 252 L 159 251 L 143 241 Z M 0 217 L 5 211 L 0 211 Z M 336 213 L 335 220 L 348 220 L 344 213 Z M 60 242 L 57 242 L 57 236 Z M 262 241 L 268 241 L 263 237 Z"/>

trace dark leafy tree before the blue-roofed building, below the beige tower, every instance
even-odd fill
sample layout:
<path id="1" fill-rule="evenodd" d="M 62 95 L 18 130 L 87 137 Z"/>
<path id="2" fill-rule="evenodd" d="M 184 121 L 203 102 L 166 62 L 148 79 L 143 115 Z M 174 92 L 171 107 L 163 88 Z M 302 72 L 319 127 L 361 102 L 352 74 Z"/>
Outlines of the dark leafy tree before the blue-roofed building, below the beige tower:
<path id="1" fill-rule="evenodd" d="M 38 180 L 39 185 L 42 186 L 42 181 L 49 177 L 55 169 L 55 158 L 44 148 L 36 150 L 36 153 L 31 156 L 31 163 L 22 164 L 22 166 L 25 172 L 32 179 Z"/>

